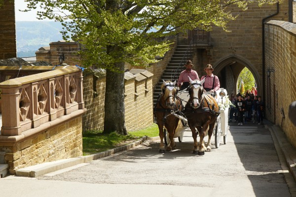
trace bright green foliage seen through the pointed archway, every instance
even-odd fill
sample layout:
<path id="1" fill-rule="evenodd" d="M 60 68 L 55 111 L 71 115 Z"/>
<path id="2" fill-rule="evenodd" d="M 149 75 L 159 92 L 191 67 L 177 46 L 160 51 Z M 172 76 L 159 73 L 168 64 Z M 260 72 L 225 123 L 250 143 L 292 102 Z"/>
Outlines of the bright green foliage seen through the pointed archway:
<path id="1" fill-rule="evenodd" d="M 247 90 L 252 90 L 252 86 L 255 85 L 255 78 L 252 72 L 247 67 L 244 67 L 244 69 L 240 72 L 237 81 L 239 82 L 237 84 L 237 90 L 239 90 L 241 94 L 245 94 Z M 242 90 L 241 82 L 243 82 L 244 90 Z"/>

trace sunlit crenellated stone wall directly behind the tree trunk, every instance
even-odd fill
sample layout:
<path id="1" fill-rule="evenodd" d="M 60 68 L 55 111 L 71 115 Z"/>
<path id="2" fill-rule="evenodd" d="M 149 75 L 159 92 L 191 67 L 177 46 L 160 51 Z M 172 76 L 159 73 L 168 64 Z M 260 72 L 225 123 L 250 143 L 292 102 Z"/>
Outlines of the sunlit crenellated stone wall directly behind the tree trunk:
<path id="1" fill-rule="evenodd" d="M 83 131 L 103 130 L 106 73 L 102 69 L 83 72 L 83 95 L 87 113 Z M 153 123 L 152 76 L 144 69 L 131 69 L 124 76 L 125 126 L 127 131 L 141 130 Z"/>

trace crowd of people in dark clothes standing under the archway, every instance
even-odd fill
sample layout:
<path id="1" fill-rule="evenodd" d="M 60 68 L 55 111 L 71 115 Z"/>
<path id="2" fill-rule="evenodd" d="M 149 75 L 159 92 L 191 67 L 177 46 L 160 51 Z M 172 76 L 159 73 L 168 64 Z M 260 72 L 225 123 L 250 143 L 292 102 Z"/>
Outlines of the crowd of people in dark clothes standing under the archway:
<path id="1" fill-rule="evenodd" d="M 257 90 L 252 87 L 252 90 L 247 90 L 245 94 L 234 94 L 229 97 L 232 105 L 230 107 L 229 122 L 237 122 L 238 125 L 253 122 L 258 125 L 263 124 L 264 117 L 264 102 L 257 95 Z"/>

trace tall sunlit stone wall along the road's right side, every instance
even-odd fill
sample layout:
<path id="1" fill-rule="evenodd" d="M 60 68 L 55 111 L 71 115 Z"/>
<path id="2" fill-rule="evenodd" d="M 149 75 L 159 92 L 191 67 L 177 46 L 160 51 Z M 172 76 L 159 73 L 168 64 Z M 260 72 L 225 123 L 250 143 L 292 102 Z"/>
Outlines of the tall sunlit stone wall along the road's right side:
<path id="1" fill-rule="evenodd" d="M 265 70 L 268 68 L 274 72 L 265 77 L 266 118 L 280 126 L 296 147 L 296 127 L 288 118 L 289 105 L 296 100 L 296 24 L 265 23 Z"/>

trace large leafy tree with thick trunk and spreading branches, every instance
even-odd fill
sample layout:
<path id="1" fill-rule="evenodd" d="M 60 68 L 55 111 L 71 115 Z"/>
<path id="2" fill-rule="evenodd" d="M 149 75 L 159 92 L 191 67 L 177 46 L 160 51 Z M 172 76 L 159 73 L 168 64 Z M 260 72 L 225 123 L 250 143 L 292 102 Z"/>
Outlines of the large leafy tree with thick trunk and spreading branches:
<path id="1" fill-rule="evenodd" d="M 278 0 L 26 0 L 27 10 L 40 7 L 39 19 L 64 26 L 64 39 L 84 46 L 84 66 L 106 69 L 104 132 L 127 134 L 124 122 L 124 64 L 143 66 L 162 56 L 171 40 L 165 36 L 212 26 L 226 30 L 234 20 L 227 7 Z M 71 33 L 71 35 L 67 34 Z"/>

